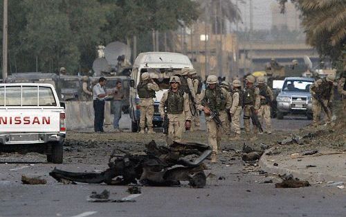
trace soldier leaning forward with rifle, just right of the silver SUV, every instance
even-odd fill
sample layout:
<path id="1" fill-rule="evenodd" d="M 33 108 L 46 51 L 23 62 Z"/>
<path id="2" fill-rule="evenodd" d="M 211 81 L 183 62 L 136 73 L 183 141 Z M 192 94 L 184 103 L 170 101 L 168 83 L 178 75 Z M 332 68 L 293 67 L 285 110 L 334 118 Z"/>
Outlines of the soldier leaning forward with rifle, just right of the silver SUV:
<path id="1" fill-rule="evenodd" d="M 318 79 L 310 86 L 310 93 L 312 96 L 312 112 L 313 112 L 313 126 L 316 128 L 320 120 L 320 113 L 322 105 L 318 101 L 322 101 L 323 105 L 327 108 L 327 114 L 325 116 L 325 123 L 331 123 L 331 110 L 334 99 L 334 88 L 333 83 L 335 80 L 334 75 L 328 75 L 326 78 Z"/>

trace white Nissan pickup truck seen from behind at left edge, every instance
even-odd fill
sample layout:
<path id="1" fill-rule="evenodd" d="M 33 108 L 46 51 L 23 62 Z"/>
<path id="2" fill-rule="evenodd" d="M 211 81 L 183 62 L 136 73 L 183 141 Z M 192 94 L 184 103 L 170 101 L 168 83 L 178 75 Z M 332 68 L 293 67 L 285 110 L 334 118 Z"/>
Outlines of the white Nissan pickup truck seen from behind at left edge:
<path id="1" fill-rule="evenodd" d="M 62 163 L 66 121 L 53 85 L 0 84 L 0 153 L 36 152 Z"/>

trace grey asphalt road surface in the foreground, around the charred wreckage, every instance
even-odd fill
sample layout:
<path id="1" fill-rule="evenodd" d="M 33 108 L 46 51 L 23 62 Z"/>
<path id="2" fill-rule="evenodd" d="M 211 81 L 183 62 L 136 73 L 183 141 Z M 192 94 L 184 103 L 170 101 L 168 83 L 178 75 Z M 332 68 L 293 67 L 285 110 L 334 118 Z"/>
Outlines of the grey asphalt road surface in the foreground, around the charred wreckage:
<path id="1" fill-rule="evenodd" d="M 120 125 L 126 128 L 125 123 L 128 119 L 123 118 Z M 292 117 L 273 121 L 273 126 L 286 131 L 308 123 L 305 119 Z M 203 189 L 192 189 L 187 183 L 180 187 L 145 186 L 140 196 L 135 198 L 136 202 L 88 202 L 86 198 L 92 191 L 100 193 L 107 189 L 112 199 L 124 198 L 129 193 L 126 192 L 127 186 L 62 184 L 48 176 L 55 166 L 80 172 L 98 172 L 107 168 L 104 164 L 107 153 L 97 153 L 88 148 L 83 151 L 78 156 L 94 153 L 96 158 L 103 158 L 104 161 L 78 158 L 71 154 L 71 162 L 47 164 L 43 155 L 0 155 L 0 216 L 325 217 L 345 216 L 346 213 L 345 191 L 313 183 L 300 189 L 275 189 L 273 183 L 261 182 L 280 182 L 277 176 L 260 175 L 259 167 L 244 165 L 238 158 L 214 165 L 207 162 L 209 170 L 206 174 L 212 174 Z M 21 175 L 40 175 L 47 180 L 47 184 L 21 184 Z M 219 180 L 219 177 L 225 179 Z"/>

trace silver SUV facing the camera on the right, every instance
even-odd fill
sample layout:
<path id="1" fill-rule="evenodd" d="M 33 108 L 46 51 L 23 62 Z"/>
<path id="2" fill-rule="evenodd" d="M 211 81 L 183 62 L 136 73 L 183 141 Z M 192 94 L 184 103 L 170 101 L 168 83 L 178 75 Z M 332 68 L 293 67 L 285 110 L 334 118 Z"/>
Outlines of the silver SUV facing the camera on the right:
<path id="1" fill-rule="evenodd" d="M 302 114 L 312 119 L 310 85 L 314 78 L 285 78 L 280 93 L 277 95 L 277 119 L 283 119 L 287 114 Z"/>

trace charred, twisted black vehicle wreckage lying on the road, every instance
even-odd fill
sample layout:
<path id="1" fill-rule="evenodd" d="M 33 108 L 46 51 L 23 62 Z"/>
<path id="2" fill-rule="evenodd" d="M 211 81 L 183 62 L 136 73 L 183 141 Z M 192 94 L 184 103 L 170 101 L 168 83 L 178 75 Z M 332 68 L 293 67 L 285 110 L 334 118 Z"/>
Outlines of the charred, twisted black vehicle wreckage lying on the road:
<path id="1" fill-rule="evenodd" d="M 157 146 L 155 141 L 145 144 L 143 155 L 113 150 L 106 171 L 102 173 L 73 173 L 57 168 L 49 173 L 57 181 L 69 180 L 111 185 L 143 184 L 145 186 L 177 186 L 188 181 L 196 188 L 206 186 L 206 166 L 202 163 L 212 153 L 205 144 L 174 142 Z M 125 155 L 116 155 L 116 151 Z M 193 161 L 192 161 L 193 159 Z"/>

